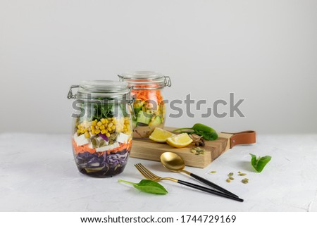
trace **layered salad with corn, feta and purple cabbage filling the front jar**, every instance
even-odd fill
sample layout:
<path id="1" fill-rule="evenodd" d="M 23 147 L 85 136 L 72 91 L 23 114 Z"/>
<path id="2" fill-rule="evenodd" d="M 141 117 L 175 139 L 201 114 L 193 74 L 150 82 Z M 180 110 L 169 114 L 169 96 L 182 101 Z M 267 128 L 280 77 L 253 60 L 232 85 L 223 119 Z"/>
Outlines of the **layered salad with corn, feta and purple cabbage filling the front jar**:
<path id="1" fill-rule="evenodd" d="M 92 117 L 75 119 L 73 153 L 83 174 L 111 177 L 123 172 L 132 145 L 132 125 L 130 114 L 122 108 L 121 104 L 95 104 Z"/>

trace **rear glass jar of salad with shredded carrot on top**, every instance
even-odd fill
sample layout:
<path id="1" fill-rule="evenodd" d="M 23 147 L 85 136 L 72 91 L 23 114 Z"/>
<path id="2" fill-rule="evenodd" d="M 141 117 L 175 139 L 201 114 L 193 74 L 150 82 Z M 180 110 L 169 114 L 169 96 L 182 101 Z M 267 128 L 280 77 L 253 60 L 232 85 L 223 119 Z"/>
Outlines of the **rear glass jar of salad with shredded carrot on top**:
<path id="1" fill-rule="evenodd" d="M 147 138 L 155 127 L 164 127 L 165 104 L 161 89 L 170 87 L 170 77 L 153 71 L 135 71 L 118 75 L 128 82 L 135 98 L 132 117 L 133 138 Z"/>

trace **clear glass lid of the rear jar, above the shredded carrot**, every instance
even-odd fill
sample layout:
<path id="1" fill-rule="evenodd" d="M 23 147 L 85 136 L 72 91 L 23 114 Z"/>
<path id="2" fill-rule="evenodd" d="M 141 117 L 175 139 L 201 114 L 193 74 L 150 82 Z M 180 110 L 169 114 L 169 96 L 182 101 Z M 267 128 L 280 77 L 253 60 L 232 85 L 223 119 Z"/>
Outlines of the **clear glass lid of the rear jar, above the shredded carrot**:
<path id="1" fill-rule="evenodd" d="M 149 70 L 126 72 L 118 77 L 120 81 L 128 82 L 132 89 L 161 89 L 172 85 L 170 77 Z"/>

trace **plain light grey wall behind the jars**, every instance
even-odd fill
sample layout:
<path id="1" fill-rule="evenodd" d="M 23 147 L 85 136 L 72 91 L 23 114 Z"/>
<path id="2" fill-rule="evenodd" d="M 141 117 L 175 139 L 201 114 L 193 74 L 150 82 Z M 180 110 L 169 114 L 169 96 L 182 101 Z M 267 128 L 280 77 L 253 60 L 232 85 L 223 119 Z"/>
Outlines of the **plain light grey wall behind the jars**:
<path id="1" fill-rule="evenodd" d="M 70 85 L 127 70 L 169 75 L 169 100 L 245 99 L 245 118 L 166 125 L 316 132 L 316 12 L 309 0 L 0 0 L 0 132 L 70 132 Z"/>

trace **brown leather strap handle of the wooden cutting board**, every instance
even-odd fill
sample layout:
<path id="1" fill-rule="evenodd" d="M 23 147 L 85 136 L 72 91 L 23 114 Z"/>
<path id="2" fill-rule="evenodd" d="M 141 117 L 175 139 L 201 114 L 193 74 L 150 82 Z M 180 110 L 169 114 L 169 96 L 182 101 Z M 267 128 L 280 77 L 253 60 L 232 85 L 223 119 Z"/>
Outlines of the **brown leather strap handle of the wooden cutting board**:
<path id="1" fill-rule="evenodd" d="M 232 134 L 230 137 L 230 149 L 237 144 L 254 144 L 256 143 L 256 132 L 253 130 L 246 130 L 242 132 L 221 132 L 225 134 Z"/>

